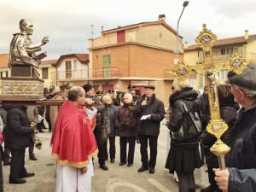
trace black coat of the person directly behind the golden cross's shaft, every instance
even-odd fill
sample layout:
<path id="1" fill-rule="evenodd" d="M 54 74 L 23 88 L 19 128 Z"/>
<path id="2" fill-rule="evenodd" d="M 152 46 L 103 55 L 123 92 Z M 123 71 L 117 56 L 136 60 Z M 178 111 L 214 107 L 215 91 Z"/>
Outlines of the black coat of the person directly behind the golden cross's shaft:
<path id="1" fill-rule="evenodd" d="M 219 108 L 220 108 L 220 117 L 224 122 L 229 126 L 228 130 L 224 132 L 221 137 L 221 140 L 230 145 L 230 137 L 232 134 L 232 128 L 236 122 L 237 110 L 239 109 L 238 103 L 234 102 L 234 96 L 226 96 L 219 99 Z M 216 137 L 206 131 L 205 137 L 201 139 L 201 143 L 208 148 L 211 148 L 212 145 L 216 142 Z M 218 157 L 216 154 L 209 152 L 207 154 L 207 165 L 217 168 L 218 167 Z"/>

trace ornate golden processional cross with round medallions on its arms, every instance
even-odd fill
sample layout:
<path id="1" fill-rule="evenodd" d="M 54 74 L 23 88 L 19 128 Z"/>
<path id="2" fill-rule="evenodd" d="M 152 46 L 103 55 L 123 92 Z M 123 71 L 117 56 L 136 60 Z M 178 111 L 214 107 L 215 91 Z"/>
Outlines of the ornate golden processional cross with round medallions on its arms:
<path id="1" fill-rule="evenodd" d="M 241 55 L 234 54 L 230 60 L 213 61 L 212 46 L 215 43 L 217 36 L 207 30 L 207 25 L 203 25 L 203 30 L 195 38 L 195 42 L 201 46 L 204 61 L 196 66 L 188 66 L 183 62 L 178 62 L 177 66 L 172 69 L 172 74 L 179 80 L 189 79 L 191 73 L 200 73 L 207 77 L 207 88 L 209 90 L 209 107 L 211 120 L 207 125 L 207 131 L 217 137 L 217 142 L 210 149 L 213 154 L 218 156 L 220 169 L 225 169 L 224 155 L 230 151 L 225 143 L 220 140 L 220 137 L 227 131 L 228 125 L 220 118 L 218 91 L 216 86 L 215 74 L 219 70 L 230 69 L 235 73 L 241 73 L 247 67 L 247 61 Z"/>

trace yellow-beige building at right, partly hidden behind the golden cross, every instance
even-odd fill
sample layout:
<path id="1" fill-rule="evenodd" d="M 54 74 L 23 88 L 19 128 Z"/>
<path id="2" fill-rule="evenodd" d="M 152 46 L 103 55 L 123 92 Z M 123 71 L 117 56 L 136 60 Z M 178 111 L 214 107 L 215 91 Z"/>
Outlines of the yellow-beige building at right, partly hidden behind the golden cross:
<path id="1" fill-rule="evenodd" d="M 213 60 L 214 61 L 227 61 L 230 60 L 234 53 L 239 53 L 248 61 L 255 63 L 256 61 L 256 34 L 249 35 L 246 30 L 244 35 L 235 38 L 218 39 L 213 45 Z M 197 44 L 188 46 L 184 44 L 184 62 L 189 65 L 195 65 L 203 61 L 202 50 Z M 217 73 L 216 78 L 220 83 L 224 83 L 227 79 L 228 69 L 224 69 Z M 206 79 L 202 75 L 194 75 L 191 79 L 195 88 L 202 89 L 206 84 Z"/>

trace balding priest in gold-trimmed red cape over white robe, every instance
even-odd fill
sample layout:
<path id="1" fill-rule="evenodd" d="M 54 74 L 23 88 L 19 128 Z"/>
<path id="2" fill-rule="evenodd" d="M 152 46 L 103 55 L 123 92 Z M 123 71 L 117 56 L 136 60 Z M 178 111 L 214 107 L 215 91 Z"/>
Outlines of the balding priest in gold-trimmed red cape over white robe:
<path id="1" fill-rule="evenodd" d="M 58 113 L 51 137 L 52 155 L 57 158 L 56 188 L 60 192 L 90 192 L 93 176 L 92 155 L 96 139 L 82 106 L 86 102 L 82 87 L 73 86 Z"/>

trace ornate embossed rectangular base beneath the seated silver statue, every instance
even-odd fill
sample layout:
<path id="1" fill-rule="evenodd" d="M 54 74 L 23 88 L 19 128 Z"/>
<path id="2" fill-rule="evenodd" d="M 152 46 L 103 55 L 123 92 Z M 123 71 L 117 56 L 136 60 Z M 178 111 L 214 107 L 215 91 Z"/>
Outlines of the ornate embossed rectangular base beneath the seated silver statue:
<path id="1" fill-rule="evenodd" d="M 0 105 L 33 105 L 44 97 L 44 80 L 32 78 L 1 79 Z"/>

